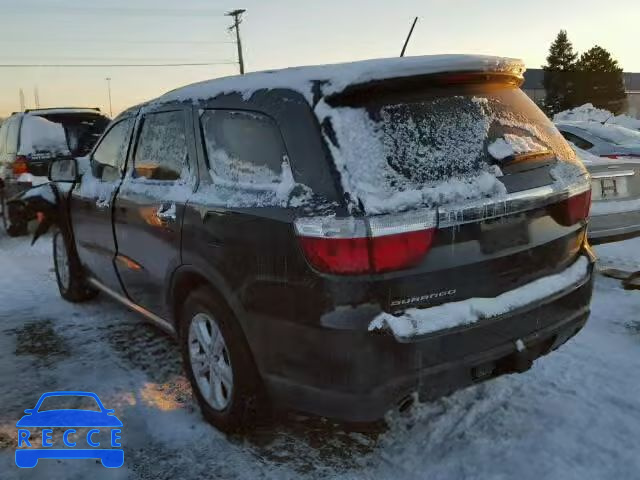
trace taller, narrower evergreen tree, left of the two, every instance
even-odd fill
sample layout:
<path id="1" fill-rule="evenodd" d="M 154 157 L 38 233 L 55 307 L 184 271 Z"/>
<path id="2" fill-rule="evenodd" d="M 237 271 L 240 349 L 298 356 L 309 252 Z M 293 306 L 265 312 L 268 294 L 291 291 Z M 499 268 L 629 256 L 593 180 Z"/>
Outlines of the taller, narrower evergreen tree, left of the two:
<path id="1" fill-rule="evenodd" d="M 573 106 L 573 72 L 577 57 L 566 30 L 560 30 L 549 48 L 547 64 L 543 66 L 546 91 L 544 107 L 549 116 Z"/>

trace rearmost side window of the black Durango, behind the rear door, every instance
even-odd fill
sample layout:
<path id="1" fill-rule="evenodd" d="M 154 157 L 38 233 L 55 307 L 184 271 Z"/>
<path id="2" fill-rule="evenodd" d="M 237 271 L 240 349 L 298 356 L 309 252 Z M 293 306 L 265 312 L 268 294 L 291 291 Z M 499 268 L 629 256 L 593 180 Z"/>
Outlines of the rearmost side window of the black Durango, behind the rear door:
<path id="1" fill-rule="evenodd" d="M 271 118 L 207 110 L 200 122 L 215 180 L 256 187 L 281 182 L 287 155 L 280 130 Z"/>

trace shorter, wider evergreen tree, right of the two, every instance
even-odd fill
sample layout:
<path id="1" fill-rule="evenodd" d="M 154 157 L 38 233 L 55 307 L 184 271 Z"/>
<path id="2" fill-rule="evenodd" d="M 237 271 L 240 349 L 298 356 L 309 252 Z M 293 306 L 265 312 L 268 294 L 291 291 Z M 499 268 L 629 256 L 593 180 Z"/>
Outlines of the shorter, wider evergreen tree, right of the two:
<path id="1" fill-rule="evenodd" d="M 627 106 L 622 68 L 611 54 L 596 45 L 576 62 L 576 104 L 592 103 L 613 113 Z"/>

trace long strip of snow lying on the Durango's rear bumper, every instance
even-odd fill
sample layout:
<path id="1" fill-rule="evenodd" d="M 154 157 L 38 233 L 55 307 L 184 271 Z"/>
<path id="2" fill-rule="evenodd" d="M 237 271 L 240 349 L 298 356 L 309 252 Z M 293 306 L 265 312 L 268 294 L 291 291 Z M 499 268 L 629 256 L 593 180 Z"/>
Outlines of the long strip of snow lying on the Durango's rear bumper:
<path id="1" fill-rule="evenodd" d="M 569 288 L 584 280 L 588 271 L 589 260 L 583 256 L 559 274 L 540 278 L 495 298 L 470 298 L 432 308 L 411 308 L 400 316 L 381 313 L 369 324 L 369 331 L 390 329 L 396 338 L 408 339 L 470 325 L 484 318 L 508 313 Z"/>

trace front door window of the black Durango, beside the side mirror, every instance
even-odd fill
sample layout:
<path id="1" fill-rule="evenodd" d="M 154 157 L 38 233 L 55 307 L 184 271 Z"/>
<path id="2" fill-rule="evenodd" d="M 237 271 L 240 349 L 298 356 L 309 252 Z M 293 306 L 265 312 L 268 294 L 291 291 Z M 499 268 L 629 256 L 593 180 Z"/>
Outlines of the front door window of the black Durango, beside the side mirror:
<path id="1" fill-rule="evenodd" d="M 98 164 L 102 180 L 114 181 L 120 178 L 127 160 L 132 126 L 132 118 L 118 122 L 105 134 L 93 152 L 92 161 Z"/>

